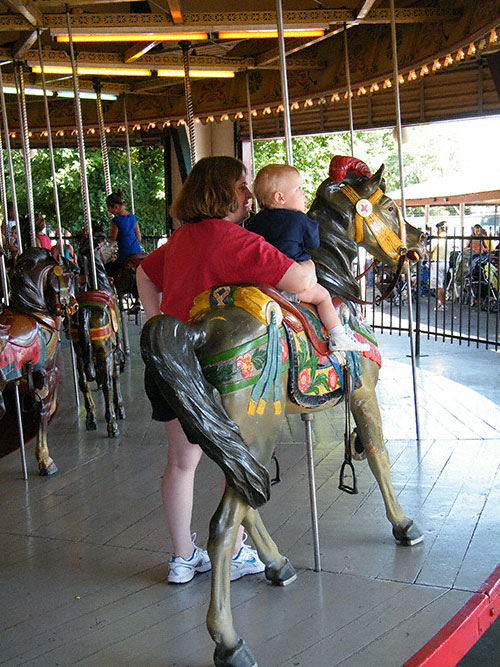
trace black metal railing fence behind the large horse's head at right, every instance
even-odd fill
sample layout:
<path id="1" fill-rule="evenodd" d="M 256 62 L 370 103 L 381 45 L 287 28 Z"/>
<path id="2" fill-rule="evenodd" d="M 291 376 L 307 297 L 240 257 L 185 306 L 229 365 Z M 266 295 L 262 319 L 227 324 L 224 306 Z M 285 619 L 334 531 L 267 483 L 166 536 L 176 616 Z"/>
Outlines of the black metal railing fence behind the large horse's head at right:
<path id="1" fill-rule="evenodd" d="M 430 261 L 430 254 L 412 267 L 410 274 L 417 354 L 422 336 L 498 349 L 500 237 L 440 238 L 444 246 L 440 259 L 445 261 L 442 283 L 438 280 L 438 265 Z M 428 249 L 437 242 L 438 237 L 431 236 Z M 383 265 L 372 273 L 366 287 L 366 300 L 370 302 L 365 307 L 368 321 L 374 329 L 408 332 L 407 277 L 400 276 L 391 296 L 377 305 L 377 297 L 390 284 L 393 274 Z"/>

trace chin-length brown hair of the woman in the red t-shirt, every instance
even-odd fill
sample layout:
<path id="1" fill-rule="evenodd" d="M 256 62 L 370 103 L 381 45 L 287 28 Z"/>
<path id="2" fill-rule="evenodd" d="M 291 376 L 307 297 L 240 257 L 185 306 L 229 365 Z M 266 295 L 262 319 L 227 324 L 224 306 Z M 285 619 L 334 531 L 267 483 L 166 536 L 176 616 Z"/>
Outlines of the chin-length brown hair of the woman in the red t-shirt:
<path id="1" fill-rule="evenodd" d="M 238 208 L 234 186 L 244 174 L 245 165 L 234 157 L 202 158 L 189 173 L 170 207 L 170 214 L 181 222 L 224 218 Z"/>

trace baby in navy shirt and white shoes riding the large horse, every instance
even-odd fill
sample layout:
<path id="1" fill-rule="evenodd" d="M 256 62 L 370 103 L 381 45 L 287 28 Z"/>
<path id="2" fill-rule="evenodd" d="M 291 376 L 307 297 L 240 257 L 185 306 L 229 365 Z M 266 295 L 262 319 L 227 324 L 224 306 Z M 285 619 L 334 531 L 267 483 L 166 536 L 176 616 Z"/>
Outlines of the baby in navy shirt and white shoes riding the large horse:
<path id="1" fill-rule="evenodd" d="M 319 247 L 318 223 L 303 212 L 307 202 L 298 169 L 285 164 L 263 167 L 255 178 L 254 194 L 262 210 L 252 218 L 247 229 L 263 236 L 296 262 L 311 259 L 307 249 Z M 342 326 L 330 294 L 322 285 L 316 283 L 297 297 L 317 307 L 328 330 L 331 352 L 370 349 L 368 344 L 356 340 L 349 327 Z"/>

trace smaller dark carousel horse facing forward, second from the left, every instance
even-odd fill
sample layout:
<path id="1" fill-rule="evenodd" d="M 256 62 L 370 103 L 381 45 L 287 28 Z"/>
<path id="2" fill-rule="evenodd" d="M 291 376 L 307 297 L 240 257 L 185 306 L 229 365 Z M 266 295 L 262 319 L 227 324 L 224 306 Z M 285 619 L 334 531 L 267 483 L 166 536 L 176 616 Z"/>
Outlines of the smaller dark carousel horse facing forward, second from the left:
<path id="1" fill-rule="evenodd" d="M 82 269 L 76 295 L 78 313 L 71 319 L 71 339 L 76 352 L 78 384 L 84 396 L 88 431 L 97 428 L 96 406 L 90 382 L 96 380 L 105 403 L 108 437 L 119 435 L 118 419 L 125 419 L 120 391 L 120 372 L 125 365 L 121 347 L 121 317 L 116 290 L 110 283 L 105 264 L 116 257 L 116 242 L 105 234 L 95 234 L 95 268 L 97 289 L 92 286 L 90 243 L 84 239 L 78 252 Z"/>

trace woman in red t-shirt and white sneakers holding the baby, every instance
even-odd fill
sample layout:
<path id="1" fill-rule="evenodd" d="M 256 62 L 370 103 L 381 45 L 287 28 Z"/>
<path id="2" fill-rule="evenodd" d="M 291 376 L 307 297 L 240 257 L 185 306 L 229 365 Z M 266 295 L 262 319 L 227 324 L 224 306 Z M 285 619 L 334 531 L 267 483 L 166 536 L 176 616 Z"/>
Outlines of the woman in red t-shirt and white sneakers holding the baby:
<path id="1" fill-rule="evenodd" d="M 249 215 L 251 192 L 245 165 L 228 157 L 203 158 L 191 170 L 171 207 L 182 225 L 167 243 L 143 260 L 137 287 L 146 316 L 165 313 L 186 322 L 194 298 L 214 285 L 267 283 L 287 292 L 301 292 L 316 281 L 311 260 L 295 262 L 263 237 L 241 227 Z M 145 388 L 153 419 L 165 422 L 168 461 L 162 497 L 174 555 L 168 581 L 185 583 L 210 569 L 205 550 L 191 536 L 194 474 L 201 457 L 199 445 L 187 439 L 178 419 L 145 372 Z M 257 552 L 241 545 L 231 563 L 231 580 L 264 570 Z"/>

